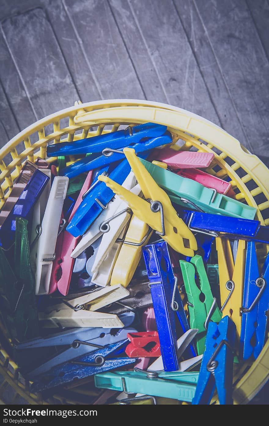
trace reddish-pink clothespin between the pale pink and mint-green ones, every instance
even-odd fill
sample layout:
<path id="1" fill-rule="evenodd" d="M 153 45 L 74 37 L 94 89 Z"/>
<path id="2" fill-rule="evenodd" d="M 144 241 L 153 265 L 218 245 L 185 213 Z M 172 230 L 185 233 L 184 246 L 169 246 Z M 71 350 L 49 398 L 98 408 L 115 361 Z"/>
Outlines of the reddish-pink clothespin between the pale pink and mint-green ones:
<path id="1" fill-rule="evenodd" d="M 181 169 L 176 172 L 177 175 L 183 176 L 184 178 L 193 179 L 195 182 L 204 185 L 207 188 L 215 189 L 220 194 L 227 194 L 232 196 L 234 191 L 232 185 L 216 176 L 212 176 L 208 173 L 198 169 Z"/>

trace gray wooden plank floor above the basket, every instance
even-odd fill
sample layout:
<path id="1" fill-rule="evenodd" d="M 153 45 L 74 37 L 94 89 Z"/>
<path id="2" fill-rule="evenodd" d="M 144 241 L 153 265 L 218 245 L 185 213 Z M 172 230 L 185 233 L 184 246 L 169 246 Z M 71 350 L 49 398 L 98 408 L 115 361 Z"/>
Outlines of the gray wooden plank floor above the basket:
<path id="1" fill-rule="evenodd" d="M 1 0 L 0 146 L 59 109 L 189 109 L 269 164 L 268 0 Z"/>

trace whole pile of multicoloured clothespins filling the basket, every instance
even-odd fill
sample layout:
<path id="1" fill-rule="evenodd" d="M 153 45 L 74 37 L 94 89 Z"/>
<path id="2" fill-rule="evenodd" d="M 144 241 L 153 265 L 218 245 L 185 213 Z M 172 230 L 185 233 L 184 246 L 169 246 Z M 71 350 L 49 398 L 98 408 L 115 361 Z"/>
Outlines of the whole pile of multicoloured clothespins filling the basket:
<path id="1" fill-rule="evenodd" d="M 178 150 L 159 124 L 47 157 L 25 161 L 0 211 L 1 321 L 31 391 L 88 383 L 95 403 L 232 404 L 266 336 L 256 209 L 201 170 L 214 154 Z"/>

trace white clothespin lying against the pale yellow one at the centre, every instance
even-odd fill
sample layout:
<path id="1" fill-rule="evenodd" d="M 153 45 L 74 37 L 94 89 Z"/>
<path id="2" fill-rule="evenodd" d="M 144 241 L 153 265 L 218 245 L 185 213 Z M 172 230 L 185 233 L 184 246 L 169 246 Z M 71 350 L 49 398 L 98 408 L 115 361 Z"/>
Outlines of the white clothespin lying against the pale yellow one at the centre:
<path id="1" fill-rule="evenodd" d="M 135 195 L 139 195 L 141 192 L 141 188 L 139 186 L 139 184 L 137 184 L 135 187 L 133 187 L 133 189 L 131 189 L 131 191 L 133 194 Z M 121 200 L 121 204 L 119 205 L 118 210 L 115 212 L 115 215 L 119 212 L 121 212 L 122 210 L 125 210 L 125 208 L 127 207 L 127 203 L 125 203 L 125 201 Z M 116 250 L 116 248 L 120 248 L 122 243 L 119 243 L 118 246 L 115 247 L 115 242 L 118 238 L 121 239 L 120 235 L 122 233 L 122 230 L 125 229 L 127 223 L 130 220 L 130 213 L 128 213 L 127 211 L 122 213 L 121 215 L 117 216 L 115 219 L 113 219 L 113 225 L 110 226 L 110 229 L 108 230 L 108 232 L 104 233 L 103 237 L 102 237 L 102 241 L 101 244 L 99 245 L 98 248 L 98 252 L 96 254 L 96 258 L 94 260 L 93 263 L 93 267 L 91 269 L 91 271 L 93 272 L 93 279 L 92 282 L 94 282 L 95 284 L 97 284 L 96 280 L 96 276 L 99 273 L 99 269 L 100 266 L 102 267 L 103 270 L 103 262 L 106 259 L 106 257 L 108 256 L 108 253 L 110 252 L 110 250 L 113 248 L 113 250 Z M 123 237 L 123 236 L 122 236 Z M 117 251 L 117 250 L 116 250 Z M 117 251 L 117 254 L 119 254 L 119 252 Z M 112 256 L 110 256 L 112 257 Z M 113 259 L 115 259 L 113 257 Z M 116 262 L 116 259 L 115 259 Z M 114 262 L 114 264 L 115 264 Z M 106 262 L 107 263 L 107 262 Z M 107 275 L 105 273 L 105 275 Z M 110 275 L 111 277 L 111 275 Z M 110 277 L 108 279 L 108 281 L 110 280 Z M 101 280 L 98 280 L 98 284 L 99 285 L 107 285 L 108 282 L 104 282 L 104 284 L 101 284 L 100 282 Z"/>

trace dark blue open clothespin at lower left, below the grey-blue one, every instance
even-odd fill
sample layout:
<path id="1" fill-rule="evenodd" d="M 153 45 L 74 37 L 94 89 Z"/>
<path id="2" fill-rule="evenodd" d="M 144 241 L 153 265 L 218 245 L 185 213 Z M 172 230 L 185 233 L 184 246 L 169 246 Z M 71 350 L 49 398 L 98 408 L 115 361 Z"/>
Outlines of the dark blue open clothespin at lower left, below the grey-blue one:
<path id="1" fill-rule="evenodd" d="M 133 364 L 136 362 L 136 358 L 108 358 L 113 357 L 113 352 L 127 341 L 128 339 L 125 339 L 100 347 L 83 357 L 76 358 L 71 363 L 65 363 L 57 368 L 53 368 L 48 374 L 37 378 L 37 381 L 31 386 L 31 391 L 40 392 L 45 389 L 54 388 L 55 386 L 64 385 L 75 379 L 84 379 L 85 377 L 102 373 L 102 371 L 109 371 L 114 368 Z"/>

